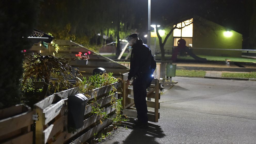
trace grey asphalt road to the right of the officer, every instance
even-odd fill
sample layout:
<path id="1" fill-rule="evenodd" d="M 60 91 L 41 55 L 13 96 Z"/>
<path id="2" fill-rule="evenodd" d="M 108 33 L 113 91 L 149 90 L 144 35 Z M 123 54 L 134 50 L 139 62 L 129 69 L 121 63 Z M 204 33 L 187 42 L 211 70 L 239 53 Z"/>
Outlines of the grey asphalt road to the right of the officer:
<path id="1" fill-rule="evenodd" d="M 256 81 L 173 80 L 161 95 L 158 123 L 144 130 L 125 122 L 101 143 L 256 143 Z"/>

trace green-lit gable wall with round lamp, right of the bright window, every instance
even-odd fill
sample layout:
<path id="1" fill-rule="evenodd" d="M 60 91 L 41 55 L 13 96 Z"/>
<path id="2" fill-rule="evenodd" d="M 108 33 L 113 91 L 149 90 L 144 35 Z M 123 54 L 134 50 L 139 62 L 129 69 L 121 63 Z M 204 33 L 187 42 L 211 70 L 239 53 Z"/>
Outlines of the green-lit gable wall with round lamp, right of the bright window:
<path id="1" fill-rule="evenodd" d="M 210 49 L 242 49 L 242 34 L 234 30 L 229 30 L 233 33 L 231 37 L 225 37 L 223 33 L 227 29 L 216 23 L 208 20 L 200 19 L 201 22 L 194 21 L 193 24 L 193 47 L 210 48 Z M 230 50 L 201 50 L 193 49 L 196 55 L 209 56 L 227 56 L 227 57 L 241 57 L 241 51 Z"/>

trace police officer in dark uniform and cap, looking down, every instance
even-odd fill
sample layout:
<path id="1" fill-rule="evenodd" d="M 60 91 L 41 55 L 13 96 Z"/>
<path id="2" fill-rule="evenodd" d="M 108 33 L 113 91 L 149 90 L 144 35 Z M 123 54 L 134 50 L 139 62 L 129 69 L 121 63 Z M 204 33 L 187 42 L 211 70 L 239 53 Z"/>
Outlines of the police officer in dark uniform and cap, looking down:
<path id="1" fill-rule="evenodd" d="M 136 33 L 131 34 L 126 39 L 132 46 L 131 58 L 130 58 L 130 71 L 127 79 L 127 86 L 133 77 L 133 94 L 134 104 L 137 110 L 138 120 L 135 122 L 135 126 L 139 128 L 148 127 L 147 117 L 147 87 L 151 82 L 151 50 L 143 44 L 142 39 L 138 38 Z M 153 57 L 154 60 L 154 57 Z"/>

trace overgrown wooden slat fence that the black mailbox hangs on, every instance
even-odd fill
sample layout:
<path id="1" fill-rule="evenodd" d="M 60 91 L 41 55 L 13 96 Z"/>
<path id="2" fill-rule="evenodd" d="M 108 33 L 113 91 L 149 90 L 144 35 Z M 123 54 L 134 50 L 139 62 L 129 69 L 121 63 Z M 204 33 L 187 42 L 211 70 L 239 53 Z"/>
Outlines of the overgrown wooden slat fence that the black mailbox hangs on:
<path id="1" fill-rule="evenodd" d="M 113 114 L 115 108 L 110 105 L 110 102 L 114 100 L 113 97 L 117 98 L 117 92 L 112 95 L 108 95 L 108 93 L 115 90 L 117 84 L 116 82 L 84 93 L 89 99 L 85 107 L 85 119 L 83 126 L 75 130 L 74 133 L 69 133 L 67 130 L 67 100 L 69 95 L 78 92 L 78 88 L 55 93 L 36 103 L 34 105 L 35 112 L 38 115 L 38 120 L 36 121 L 36 143 L 82 143 L 91 138 L 94 133 L 112 123 L 110 119 L 105 119 L 103 124 L 98 124 L 104 115 L 100 116 L 92 113 L 92 107 L 96 107 L 99 104 L 101 108 L 104 108 L 102 112 L 105 112 L 106 115 Z M 92 102 L 94 99 L 98 104 Z"/>

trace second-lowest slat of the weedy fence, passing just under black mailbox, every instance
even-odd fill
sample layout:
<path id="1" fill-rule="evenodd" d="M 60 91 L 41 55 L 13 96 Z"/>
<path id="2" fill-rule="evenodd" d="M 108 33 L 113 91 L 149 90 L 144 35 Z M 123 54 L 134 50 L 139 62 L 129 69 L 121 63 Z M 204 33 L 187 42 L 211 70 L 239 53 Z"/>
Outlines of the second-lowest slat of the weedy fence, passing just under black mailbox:
<path id="1" fill-rule="evenodd" d="M 113 108 L 113 106 L 109 106 L 107 108 L 105 108 L 104 110 L 102 110 L 103 112 L 105 112 L 107 115 L 110 114 L 111 112 L 115 111 L 116 109 Z M 104 115 L 102 115 L 101 117 L 103 117 Z M 74 135 L 76 135 L 77 133 L 81 132 L 82 130 L 86 129 L 88 126 L 92 125 L 93 123 L 97 122 L 100 120 L 101 118 L 98 114 L 95 114 L 89 118 L 87 118 L 86 120 L 84 120 L 84 124 L 80 129 L 77 129 L 76 132 L 73 133 L 69 133 L 67 134 L 67 137 L 65 139 L 68 140 L 69 138 L 73 137 Z"/>

